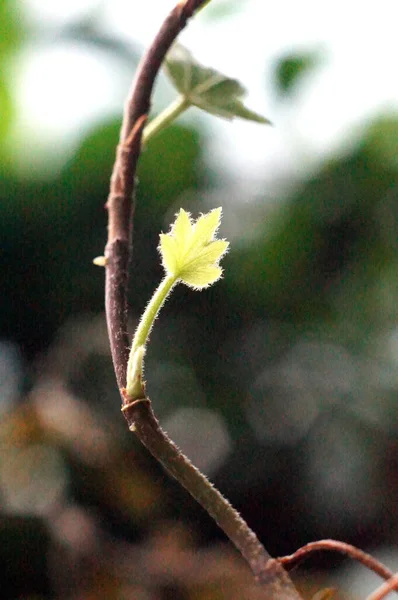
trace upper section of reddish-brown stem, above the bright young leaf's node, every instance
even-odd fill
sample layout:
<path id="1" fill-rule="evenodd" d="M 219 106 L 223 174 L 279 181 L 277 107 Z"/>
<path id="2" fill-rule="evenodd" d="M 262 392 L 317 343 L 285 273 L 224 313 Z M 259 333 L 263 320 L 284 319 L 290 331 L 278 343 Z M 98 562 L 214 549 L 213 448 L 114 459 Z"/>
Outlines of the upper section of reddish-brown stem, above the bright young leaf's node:
<path id="1" fill-rule="evenodd" d="M 151 94 L 163 59 L 188 19 L 205 0 L 179 2 L 143 57 L 125 105 L 120 143 L 106 207 L 109 211 L 105 310 L 112 360 L 119 389 L 126 385 L 128 361 L 127 283 L 132 243 L 133 195 L 141 136 Z"/>

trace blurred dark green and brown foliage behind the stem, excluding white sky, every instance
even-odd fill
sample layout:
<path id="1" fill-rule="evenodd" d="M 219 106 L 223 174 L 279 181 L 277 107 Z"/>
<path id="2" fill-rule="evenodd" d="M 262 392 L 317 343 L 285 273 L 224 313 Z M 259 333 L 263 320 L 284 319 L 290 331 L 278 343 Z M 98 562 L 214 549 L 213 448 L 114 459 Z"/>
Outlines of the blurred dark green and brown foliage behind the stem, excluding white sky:
<path id="1" fill-rule="evenodd" d="M 10 65 L 38 35 L 17 6 L 0 2 L 2 597 L 255 598 L 239 557 L 118 409 L 92 258 L 119 119 L 83 132 L 61 170 L 27 174 L 15 160 Z M 87 23 L 62 35 L 130 76 L 134 48 Z M 315 64 L 281 57 L 281 101 Z M 274 202 L 266 174 L 236 202 L 236 181 L 207 160 L 207 135 L 175 125 L 140 163 L 132 327 L 161 277 L 159 232 L 180 206 L 222 205 L 231 239 L 224 280 L 177 289 L 156 324 L 155 410 L 274 555 L 322 537 L 396 553 L 397 116 L 375 116 Z M 307 585 L 330 561 L 314 563 Z M 343 575 L 342 565 L 329 579 Z"/>

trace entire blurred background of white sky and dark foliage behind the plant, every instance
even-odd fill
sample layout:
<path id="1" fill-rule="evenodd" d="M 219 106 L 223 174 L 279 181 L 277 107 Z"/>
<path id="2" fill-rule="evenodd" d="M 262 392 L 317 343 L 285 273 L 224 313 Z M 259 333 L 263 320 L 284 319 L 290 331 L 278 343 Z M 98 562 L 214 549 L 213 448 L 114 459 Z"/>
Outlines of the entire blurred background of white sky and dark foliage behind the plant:
<path id="1" fill-rule="evenodd" d="M 0 0 L 1 598 L 258 596 L 204 511 L 131 435 L 103 312 L 123 102 L 173 2 Z M 131 328 L 180 207 L 223 207 L 214 288 L 176 289 L 146 377 L 178 445 L 269 552 L 339 538 L 398 565 L 396 19 L 213 0 L 181 36 L 273 127 L 191 109 L 139 165 Z M 158 78 L 154 114 L 174 92 Z M 296 581 L 364 597 L 338 556 Z"/>

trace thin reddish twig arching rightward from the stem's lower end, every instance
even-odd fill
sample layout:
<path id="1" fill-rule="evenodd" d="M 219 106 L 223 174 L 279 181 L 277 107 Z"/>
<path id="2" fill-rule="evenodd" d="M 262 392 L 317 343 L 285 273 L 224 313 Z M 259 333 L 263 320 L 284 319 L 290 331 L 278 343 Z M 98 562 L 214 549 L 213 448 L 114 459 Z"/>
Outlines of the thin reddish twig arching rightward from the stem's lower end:
<path id="1" fill-rule="evenodd" d="M 303 560 L 309 558 L 314 552 L 320 552 L 322 550 L 328 550 L 333 552 L 340 552 L 350 558 L 362 563 L 365 567 L 382 577 L 383 579 L 389 580 L 393 576 L 393 572 L 390 571 L 383 563 L 376 560 L 370 554 L 363 552 L 359 548 L 346 544 L 345 542 L 339 542 L 337 540 L 319 540 L 317 542 L 311 542 L 306 544 L 302 548 L 299 548 L 293 554 L 278 558 L 279 562 L 286 568 L 292 569 L 297 566 Z"/>

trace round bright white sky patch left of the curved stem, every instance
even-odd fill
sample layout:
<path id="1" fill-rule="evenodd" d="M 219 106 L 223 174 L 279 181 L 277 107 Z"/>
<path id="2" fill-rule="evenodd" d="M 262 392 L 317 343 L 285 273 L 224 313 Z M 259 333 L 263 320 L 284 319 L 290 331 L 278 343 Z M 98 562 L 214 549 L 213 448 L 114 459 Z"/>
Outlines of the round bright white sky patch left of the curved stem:
<path id="1" fill-rule="evenodd" d="M 44 134 L 87 127 L 120 106 L 115 61 L 79 44 L 33 48 L 17 85 L 24 121 L 40 123 Z"/>

